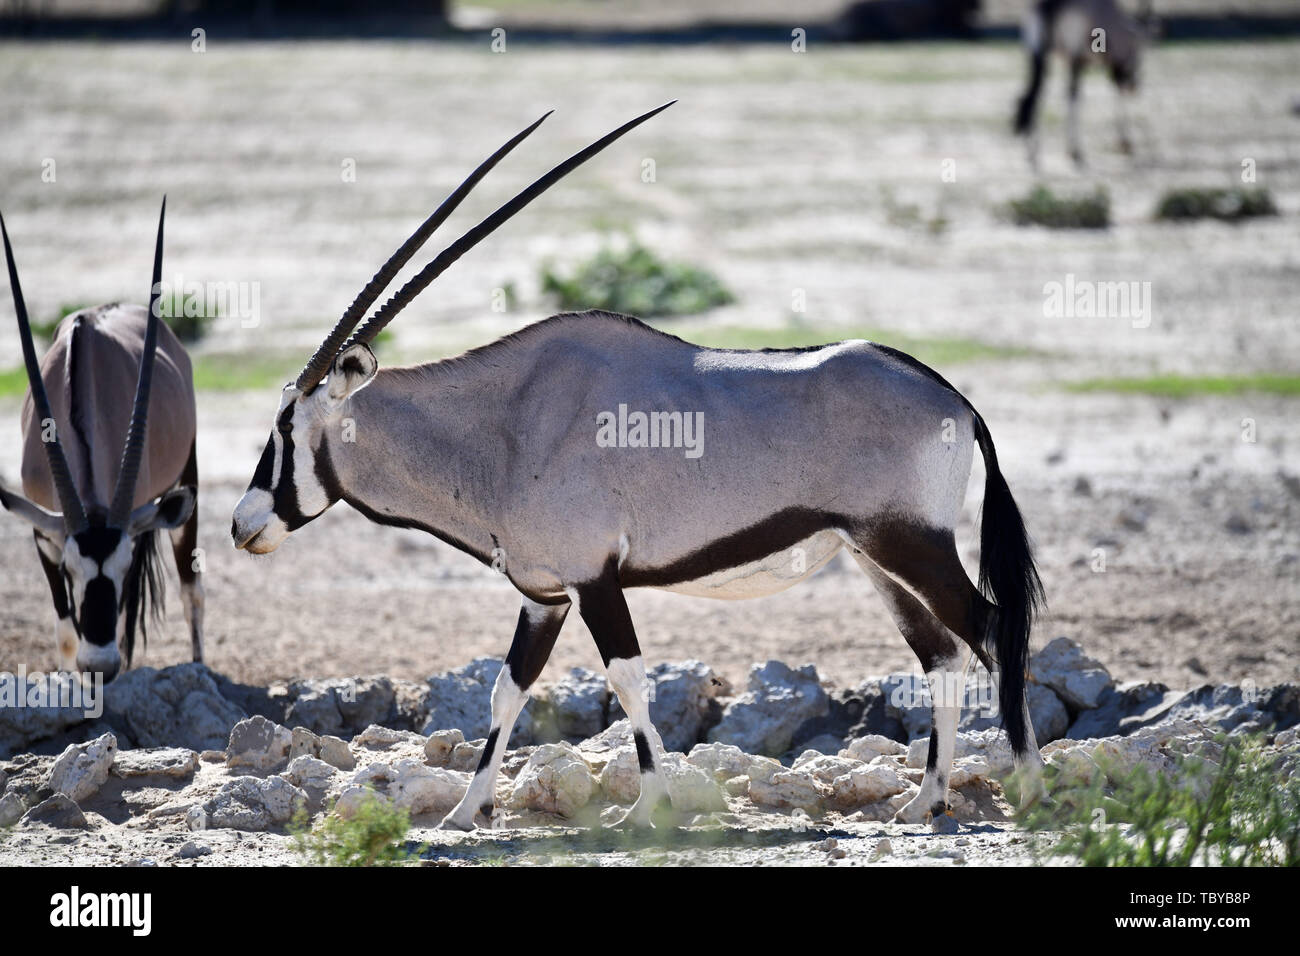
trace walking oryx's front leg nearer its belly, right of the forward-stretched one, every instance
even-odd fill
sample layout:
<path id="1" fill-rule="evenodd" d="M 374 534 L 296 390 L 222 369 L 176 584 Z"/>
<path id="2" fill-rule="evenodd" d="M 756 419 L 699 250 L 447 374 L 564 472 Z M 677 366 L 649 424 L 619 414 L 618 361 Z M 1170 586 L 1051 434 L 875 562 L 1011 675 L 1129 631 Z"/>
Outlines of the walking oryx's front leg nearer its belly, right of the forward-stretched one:
<path id="1" fill-rule="evenodd" d="M 655 813 L 664 805 L 671 810 L 672 804 L 663 778 L 663 740 L 650 722 L 650 683 L 632 615 L 616 580 L 578 588 L 577 598 L 578 614 L 595 639 L 610 685 L 632 723 L 641 767 L 641 795 L 616 826 L 649 827 Z"/>

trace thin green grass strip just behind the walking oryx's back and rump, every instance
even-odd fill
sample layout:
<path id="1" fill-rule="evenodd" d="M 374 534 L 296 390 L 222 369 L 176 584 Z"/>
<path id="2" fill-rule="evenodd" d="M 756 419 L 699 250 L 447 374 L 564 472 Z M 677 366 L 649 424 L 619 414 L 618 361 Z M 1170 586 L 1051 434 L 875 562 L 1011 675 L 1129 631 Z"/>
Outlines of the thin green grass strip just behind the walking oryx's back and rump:
<path id="1" fill-rule="evenodd" d="M 858 326 L 783 325 L 767 329 L 741 325 L 720 325 L 715 328 L 666 325 L 663 328 L 664 332 L 671 332 L 688 342 L 710 349 L 798 349 L 810 345 L 842 342 L 848 338 L 864 338 L 868 342 L 892 346 L 913 355 L 927 365 L 936 367 L 980 359 L 1019 359 L 1040 354 L 1032 349 L 993 345 L 974 338 L 905 336 L 888 329 Z"/>

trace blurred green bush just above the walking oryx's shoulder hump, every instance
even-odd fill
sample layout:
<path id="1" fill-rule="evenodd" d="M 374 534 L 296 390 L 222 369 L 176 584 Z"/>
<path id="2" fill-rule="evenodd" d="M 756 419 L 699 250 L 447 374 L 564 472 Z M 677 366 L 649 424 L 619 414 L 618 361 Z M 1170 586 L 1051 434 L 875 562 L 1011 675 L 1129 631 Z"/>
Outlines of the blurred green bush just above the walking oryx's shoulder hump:
<path id="1" fill-rule="evenodd" d="M 562 310 L 602 308 L 642 319 L 697 315 L 736 298 L 707 269 L 664 261 L 637 242 L 606 246 L 569 276 L 543 267 L 541 280 Z"/>

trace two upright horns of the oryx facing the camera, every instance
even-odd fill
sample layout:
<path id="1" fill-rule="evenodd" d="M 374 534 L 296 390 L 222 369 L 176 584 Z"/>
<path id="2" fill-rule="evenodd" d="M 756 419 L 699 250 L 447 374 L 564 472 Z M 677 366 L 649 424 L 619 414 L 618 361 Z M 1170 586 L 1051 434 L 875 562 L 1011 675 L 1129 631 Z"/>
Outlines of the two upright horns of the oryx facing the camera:
<path id="1" fill-rule="evenodd" d="M 135 480 L 140 473 L 140 462 L 144 458 L 144 436 L 148 428 L 150 416 L 150 390 L 153 384 L 153 356 L 157 351 L 159 326 L 159 299 L 162 290 L 162 221 L 166 219 L 166 196 L 162 198 L 162 209 L 159 212 L 159 235 L 153 246 L 153 284 L 150 286 L 150 315 L 144 329 L 144 352 L 140 356 L 140 373 L 135 382 L 135 405 L 131 407 L 131 424 L 126 432 L 126 445 L 122 450 L 122 464 L 117 472 L 117 488 L 113 490 L 113 501 L 108 509 L 108 524 L 114 528 L 125 528 L 131 516 L 131 506 L 135 501 Z M 13 248 L 9 246 L 9 230 L 5 229 L 4 216 L 0 216 L 0 233 L 4 235 L 4 256 L 9 265 L 9 289 L 13 293 L 13 308 L 18 315 L 18 336 L 22 339 L 22 360 L 27 367 L 27 385 L 31 388 L 31 401 L 36 408 L 38 424 L 52 421 L 49 411 L 49 395 L 46 394 L 46 382 L 40 377 L 40 364 L 36 362 L 36 349 L 31 341 L 31 324 L 27 320 L 27 306 L 22 299 L 22 286 L 18 285 L 18 268 L 13 261 Z M 58 494 L 58 503 L 64 510 L 64 527 L 69 535 L 86 528 L 86 507 L 77 493 L 77 483 L 73 480 L 68 467 L 68 458 L 64 455 L 64 446 L 58 441 L 58 431 L 55 429 L 49 441 L 42 442 L 46 446 L 46 458 L 49 460 L 49 473 L 55 480 L 55 490 Z"/>

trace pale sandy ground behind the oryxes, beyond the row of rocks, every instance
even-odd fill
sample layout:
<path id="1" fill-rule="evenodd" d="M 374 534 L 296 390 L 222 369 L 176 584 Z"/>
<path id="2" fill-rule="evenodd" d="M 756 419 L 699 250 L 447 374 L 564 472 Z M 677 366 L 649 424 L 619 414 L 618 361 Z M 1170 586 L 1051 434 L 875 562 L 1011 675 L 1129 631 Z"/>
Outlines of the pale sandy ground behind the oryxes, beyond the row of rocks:
<path id="1" fill-rule="evenodd" d="M 1296 43 L 1184 44 L 1148 68 L 1136 160 L 1114 151 L 1112 91 L 1086 88 L 1091 172 L 1074 172 L 1061 77 L 1048 91 L 1045 179 L 1104 183 L 1104 233 L 1019 229 L 997 215 L 1032 183 L 1009 133 L 1023 64 L 1010 44 L 822 48 L 486 44 L 47 44 L 0 49 L 4 212 L 29 304 L 139 299 L 159 195 L 168 272 L 256 282 L 255 328 L 224 323 L 203 350 L 285 356 L 325 325 L 447 189 L 547 108 L 558 113 L 464 207 L 469 222 L 634 112 L 663 117 L 540 200 L 403 316 L 381 355 L 419 360 L 546 313 L 542 261 L 573 261 L 608 230 L 716 271 L 738 293 L 701 324 L 871 328 L 978 338 L 1031 356 L 944 367 L 989 421 L 1039 545 L 1050 611 L 1036 645 L 1069 635 L 1121 679 L 1170 685 L 1294 680 L 1300 644 L 1297 401 L 1071 394 L 1101 375 L 1294 372 L 1300 367 L 1300 120 Z M 42 182 L 46 159 L 57 179 Z M 356 182 L 341 164 L 356 160 Z M 654 159 L 656 181 L 641 181 Z M 942 182 L 945 159 L 957 181 Z M 1254 160 L 1284 215 L 1244 226 L 1150 221 L 1173 185 L 1231 185 Z M 892 198 L 890 198 L 892 196 Z M 890 215 L 942 215 L 937 235 Z M 1067 273 L 1152 284 L 1148 328 L 1049 319 Z M 521 306 L 489 308 L 514 281 Z M 792 315 L 793 290 L 807 312 Z M 6 294 L 5 294 L 6 297 Z M 8 311 L 8 306 L 5 310 Z M 848 334 L 848 333 L 846 333 Z M 888 341 L 887 336 L 880 336 Z M 17 363 L 0 336 L 0 368 Z M 203 393 L 200 544 L 208 659 L 265 683 L 292 675 L 420 678 L 504 653 L 506 581 L 433 538 L 339 506 L 277 554 L 230 549 L 229 515 L 269 429 L 277 388 Z M 1257 441 L 1244 442 L 1253 419 Z M 0 476 L 16 484 L 18 402 L 0 399 Z M 1080 479 L 1089 486 L 1080 490 Z M 975 557 L 972 480 L 958 529 Z M 1095 549 L 1105 572 L 1095 570 Z M 974 567 L 974 562 L 970 563 Z M 173 588 L 174 591 L 174 588 Z M 915 666 L 852 562 L 797 589 L 720 604 L 629 598 L 647 658 L 701 657 L 734 682 L 749 665 L 811 661 L 840 684 Z M 170 598 L 150 663 L 186 659 Z M 0 520 L 0 667 L 53 661 L 52 610 L 30 535 Z M 571 619 L 543 679 L 599 666 Z"/>

